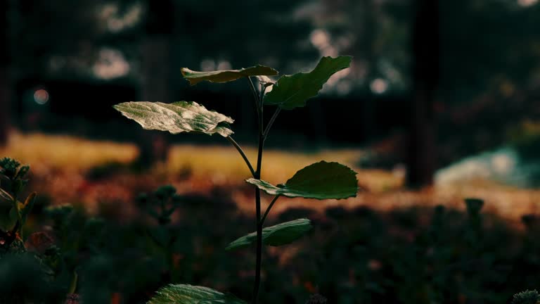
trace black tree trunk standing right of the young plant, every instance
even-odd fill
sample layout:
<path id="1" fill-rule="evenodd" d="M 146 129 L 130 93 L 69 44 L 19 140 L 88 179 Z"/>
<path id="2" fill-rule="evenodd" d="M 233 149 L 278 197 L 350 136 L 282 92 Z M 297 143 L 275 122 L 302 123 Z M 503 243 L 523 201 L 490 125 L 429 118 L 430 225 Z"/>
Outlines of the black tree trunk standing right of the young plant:
<path id="1" fill-rule="evenodd" d="M 435 173 L 433 103 L 439 78 L 439 1 L 416 0 L 413 24 L 413 95 L 407 185 L 429 186 Z"/>

